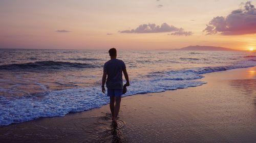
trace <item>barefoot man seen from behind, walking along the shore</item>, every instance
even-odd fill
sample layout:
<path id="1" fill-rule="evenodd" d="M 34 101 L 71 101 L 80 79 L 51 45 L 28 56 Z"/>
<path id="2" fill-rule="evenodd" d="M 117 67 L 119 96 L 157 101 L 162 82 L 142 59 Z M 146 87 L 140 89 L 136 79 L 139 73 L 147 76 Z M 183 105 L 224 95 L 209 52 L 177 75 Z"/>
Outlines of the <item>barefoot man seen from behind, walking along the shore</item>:
<path id="1" fill-rule="evenodd" d="M 102 92 L 105 93 L 104 84 L 106 81 L 106 88 L 108 88 L 108 96 L 110 97 L 110 110 L 112 113 L 112 121 L 116 122 L 123 93 L 122 72 L 126 79 L 125 86 L 128 87 L 130 83 L 124 62 L 122 60 L 116 59 L 116 49 L 111 48 L 109 50 L 109 54 L 111 60 L 104 64 L 101 88 Z M 106 75 L 108 75 L 107 79 Z"/>

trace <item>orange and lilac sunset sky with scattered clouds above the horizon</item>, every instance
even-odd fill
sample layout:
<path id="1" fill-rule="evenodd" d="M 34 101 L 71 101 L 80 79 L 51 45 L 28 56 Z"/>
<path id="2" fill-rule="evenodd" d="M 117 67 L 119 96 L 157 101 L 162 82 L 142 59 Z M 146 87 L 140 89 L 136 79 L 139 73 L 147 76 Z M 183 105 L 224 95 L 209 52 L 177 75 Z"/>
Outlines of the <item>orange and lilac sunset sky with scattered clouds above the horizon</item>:
<path id="1" fill-rule="evenodd" d="M 0 48 L 256 49 L 256 0 L 0 0 Z"/>

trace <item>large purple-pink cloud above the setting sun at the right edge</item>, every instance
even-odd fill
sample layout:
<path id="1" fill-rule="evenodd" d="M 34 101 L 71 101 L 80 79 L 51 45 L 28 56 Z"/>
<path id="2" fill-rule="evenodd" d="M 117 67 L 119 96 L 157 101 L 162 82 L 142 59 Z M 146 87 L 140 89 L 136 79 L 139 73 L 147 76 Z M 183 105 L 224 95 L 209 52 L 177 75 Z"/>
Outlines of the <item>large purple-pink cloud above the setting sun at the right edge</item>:
<path id="1" fill-rule="evenodd" d="M 207 35 L 256 34 L 256 9 L 251 2 L 242 3 L 243 8 L 233 10 L 227 16 L 214 17 L 203 32 Z"/>

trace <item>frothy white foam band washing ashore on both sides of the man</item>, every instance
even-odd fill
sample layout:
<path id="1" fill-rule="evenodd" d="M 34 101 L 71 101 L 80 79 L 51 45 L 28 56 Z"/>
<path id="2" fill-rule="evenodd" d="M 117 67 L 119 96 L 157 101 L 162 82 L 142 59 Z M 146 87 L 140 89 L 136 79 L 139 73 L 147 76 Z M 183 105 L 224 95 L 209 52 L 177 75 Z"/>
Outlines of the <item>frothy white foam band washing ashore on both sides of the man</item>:
<path id="1" fill-rule="evenodd" d="M 129 87 L 125 96 L 195 87 L 203 83 L 202 81 L 193 80 L 131 82 L 131 87 Z M 65 116 L 69 112 L 100 107 L 109 103 L 109 98 L 101 93 L 100 89 L 100 87 L 68 89 L 52 91 L 42 96 L 29 97 L 0 96 L 0 125 L 25 122 L 40 117 Z"/>

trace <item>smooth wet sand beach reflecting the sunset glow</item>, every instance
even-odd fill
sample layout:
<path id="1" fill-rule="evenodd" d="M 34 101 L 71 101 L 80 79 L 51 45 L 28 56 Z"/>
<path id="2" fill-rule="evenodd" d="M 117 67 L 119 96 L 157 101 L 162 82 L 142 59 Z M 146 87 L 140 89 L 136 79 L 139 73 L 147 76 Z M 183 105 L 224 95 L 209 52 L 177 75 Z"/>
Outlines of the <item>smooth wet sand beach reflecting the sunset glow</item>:
<path id="1" fill-rule="evenodd" d="M 204 76 L 200 87 L 122 98 L 117 125 L 104 105 L 2 126 L 0 142 L 255 142 L 256 67 Z"/>

